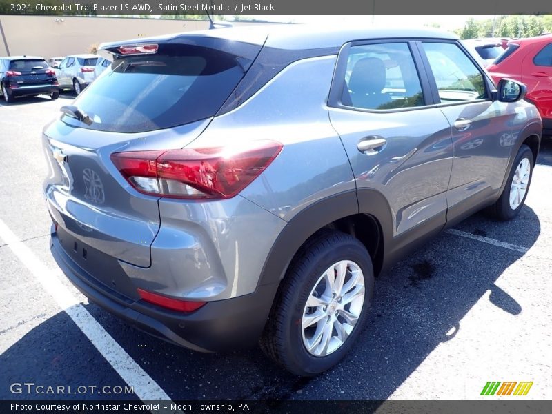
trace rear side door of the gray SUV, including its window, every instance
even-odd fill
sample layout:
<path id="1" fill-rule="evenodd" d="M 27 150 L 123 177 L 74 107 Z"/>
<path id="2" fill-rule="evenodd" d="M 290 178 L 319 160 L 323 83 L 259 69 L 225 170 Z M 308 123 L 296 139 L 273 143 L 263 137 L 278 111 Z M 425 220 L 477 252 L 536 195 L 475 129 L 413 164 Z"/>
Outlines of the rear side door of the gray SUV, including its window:
<path id="1" fill-rule="evenodd" d="M 361 212 L 380 192 L 393 236 L 444 226 L 452 168 L 449 122 L 433 106 L 412 41 L 350 43 L 339 54 L 330 119 L 351 161 Z M 337 90 L 337 92 L 336 92 Z"/>

